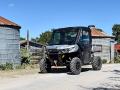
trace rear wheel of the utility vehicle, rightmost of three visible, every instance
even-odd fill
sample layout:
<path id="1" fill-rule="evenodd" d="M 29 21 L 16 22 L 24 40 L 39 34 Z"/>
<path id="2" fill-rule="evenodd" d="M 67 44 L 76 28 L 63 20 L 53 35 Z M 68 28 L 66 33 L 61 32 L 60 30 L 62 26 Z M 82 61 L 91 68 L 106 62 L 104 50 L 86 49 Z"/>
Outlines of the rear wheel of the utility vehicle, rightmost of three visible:
<path id="1" fill-rule="evenodd" d="M 92 62 L 93 70 L 101 70 L 102 68 L 102 60 L 100 57 L 94 57 Z"/>

